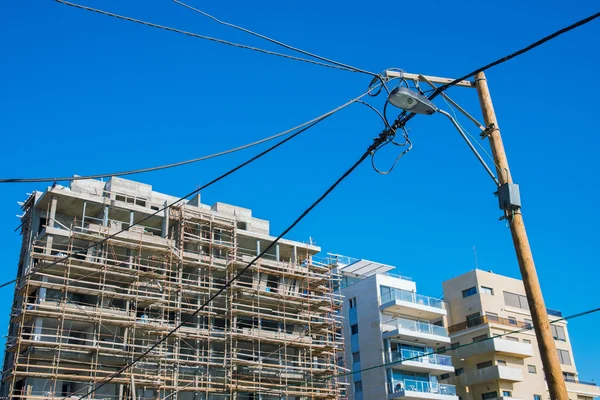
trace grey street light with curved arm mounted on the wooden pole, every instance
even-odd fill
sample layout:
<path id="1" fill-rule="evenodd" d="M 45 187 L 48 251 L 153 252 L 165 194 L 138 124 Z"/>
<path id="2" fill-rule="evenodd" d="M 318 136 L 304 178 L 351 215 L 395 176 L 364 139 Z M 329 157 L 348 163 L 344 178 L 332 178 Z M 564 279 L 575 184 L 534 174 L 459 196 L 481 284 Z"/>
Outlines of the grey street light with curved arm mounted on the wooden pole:
<path id="1" fill-rule="evenodd" d="M 488 175 L 494 180 L 494 183 L 496 184 L 496 186 L 500 186 L 500 182 L 498 181 L 498 179 L 496 178 L 496 176 L 494 175 L 494 173 L 492 172 L 490 167 L 487 166 L 487 164 L 485 163 L 485 161 L 483 160 L 481 155 L 477 152 L 477 149 L 475 148 L 475 146 L 473 146 L 473 143 L 471 143 L 471 141 L 465 134 L 464 130 L 462 129 L 462 127 L 460 126 L 458 121 L 456 121 L 456 119 L 452 115 L 448 114 L 444 110 L 440 110 L 439 108 L 437 108 L 435 106 L 435 104 L 433 104 L 431 102 L 431 100 L 429 100 L 427 97 L 423 96 L 422 94 L 419 94 L 419 93 L 415 92 L 414 90 L 410 90 L 409 88 L 405 88 L 405 87 L 401 87 L 401 86 L 398 86 L 397 88 L 395 88 L 394 90 L 392 90 L 390 92 L 387 101 L 393 106 L 401 108 L 405 111 L 414 112 L 415 114 L 431 115 L 431 114 L 434 114 L 435 112 L 438 112 L 438 113 L 448 117 L 448 119 L 452 122 L 452 124 L 454 125 L 454 127 L 456 128 L 458 133 L 460 133 L 462 138 L 465 140 L 465 142 L 467 143 L 467 145 L 469 146 L 469 148 L 471 149 L 473 154 L 475 154 L 475 157 L 477 157 L 477 159 L 479 160 L 481 165 L 483 165 L 483 168 L 485 168 Z"/>

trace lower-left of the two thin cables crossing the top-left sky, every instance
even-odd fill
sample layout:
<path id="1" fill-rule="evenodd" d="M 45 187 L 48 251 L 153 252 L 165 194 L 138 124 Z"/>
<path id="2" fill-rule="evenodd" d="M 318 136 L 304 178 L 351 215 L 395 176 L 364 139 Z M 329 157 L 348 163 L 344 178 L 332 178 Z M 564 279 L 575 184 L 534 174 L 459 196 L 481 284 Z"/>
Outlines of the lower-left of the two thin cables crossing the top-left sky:
<path id="1" fill-rule="evenodd" d="M 181 33 L 183 35 L 195 37 L 195 38 L 198 38 L 198 39 L 204 39 L 204 40 L 208 40 L 208 41 L 211 41 L 211 42 L 216 42 L 216 43 L 221 43 L 221 44 L 225 44 L 225 45 L 228 45 L 228 46 L 238 47 L 238 48 L 241 48 L 241 49 L 252 50 L 252 51 L 256 51 L 256 52 L 259 52 L 259 53 L 268 54 L 268 55 L 272 55 L 272 56 L 283 57 L 283 58 L 287 58 L 287 59 L 290 59 L 290 60 L 302 61 L 302 62 L 306 62 L 306 63 L 310 63 L 310 64 L 320 65 L 321 67 L 328 67 L 328 68 L 340 69 L 340 70 L 343 70 L 343 71 L 357 72 L 354 69 L 350 69 L 350 68 L 346 68 L 346 67 L 340 67 L 338 65 L 326 64 L 326 63 L 323 63 L 323 62 L 319 62 L 319 61 L 315 61 L 315 60 L 310 60 L 310 59 L 307 59 L 307 58 L 295 57 L 295 56 L 291 56 L 289 54 L 278 53 L 276 51 L 265 50 L 265 49 L 261 49 L 261 48 L 258 48 L 258 47 L 247 46 L 247 45 L 244 45 L 244 44 L 230 42 L 228 40 L 223 40 L 223 39 L 213 38 L 213 37 L 210 37 L 210 36 L 200 35 L 198 33 L 193 33 L 193 32 L 188 32 L 188 31 L 184 31 L 184 30 L 181 30 L 181 29 L 177 29 L 177 28 L 172 28 L 172 27 L 166 26 L 166 25 L 159 25 L 159 24 L 155 24 L 155 23 L 152 23 L 152 22 L 147 22 L 147 21 L 143 21 L 143 20 L 140 20 L 140 19 L 131 18 L 131 17 L 127 17 L 127 16 L 124 16 L 124 15 L 119 15 L 119 14 L 111 13 L 111 12 L 108 12 L 108 11 L 100 10 L 98 8 L 92 8 L 92 7 L 83 6 L 81 4 L 71 3 L 71 2 L 65 1 L 65 0 L 54 0 L 54 1 L 56 1 L 58 3 L 61 3 L 61 4 L 65 4 L 67 6 L 79 8 L 81 10 L 93 11 L 93 12 L 96 12 L 98 14 L 107 15 L 109 17 L 114 17 L 114 18 L 117 18 L 117 19 L 122 19 L 122 20 L 125 20 L 125 21 L 129 21 L 129 22 L 135 22 L 137 24 L 150 26 L 152 28 L 158 28 L 158 29 L 163 29 L 163 30 L 170 31 L 170 32 Z"/>

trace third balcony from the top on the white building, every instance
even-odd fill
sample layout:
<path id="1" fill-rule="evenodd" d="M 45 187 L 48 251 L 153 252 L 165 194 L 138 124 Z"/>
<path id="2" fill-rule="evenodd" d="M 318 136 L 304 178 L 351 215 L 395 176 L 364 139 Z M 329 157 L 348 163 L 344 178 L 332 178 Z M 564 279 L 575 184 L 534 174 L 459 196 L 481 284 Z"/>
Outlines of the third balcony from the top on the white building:
<path id="1" fill-rule="evenodd" d="M 427 355 L 414 350 L 394 351 L 387 354 L 386 362 L 397 362 L 397 364 L 392 365 L 392 368 L 401 368 L 403 371 L 428 372 L 431 375 L 454 372 L 452 357 L 439 354 Z"/>

